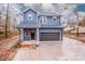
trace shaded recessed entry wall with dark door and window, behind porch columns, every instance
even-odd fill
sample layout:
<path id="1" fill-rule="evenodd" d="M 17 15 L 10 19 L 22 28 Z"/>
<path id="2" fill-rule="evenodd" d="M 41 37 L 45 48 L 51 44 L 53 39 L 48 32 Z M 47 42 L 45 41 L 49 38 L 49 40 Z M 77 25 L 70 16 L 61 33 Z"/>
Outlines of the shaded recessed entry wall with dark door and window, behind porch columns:
<path id="1" fill-rule="evenodd" d="M 24 31 L 24 40 L 37 40 L 37 28 L 23 28 Z"/>

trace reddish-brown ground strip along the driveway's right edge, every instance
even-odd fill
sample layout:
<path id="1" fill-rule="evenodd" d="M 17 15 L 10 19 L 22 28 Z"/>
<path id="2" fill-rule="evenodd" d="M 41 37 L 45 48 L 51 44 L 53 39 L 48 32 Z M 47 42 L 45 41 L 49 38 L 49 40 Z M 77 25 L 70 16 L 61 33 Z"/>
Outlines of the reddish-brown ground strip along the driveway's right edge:
<path id="1" fill-rule="evenodd" d="M 82 42 L 85 42 L 85 35 L 74 35 L 74 34 L 65 34 L 66 37 L 69 37 L 69 38 L 73 38 L 73 39 L 76 39 L 76 40 L 80 40 Z"/>

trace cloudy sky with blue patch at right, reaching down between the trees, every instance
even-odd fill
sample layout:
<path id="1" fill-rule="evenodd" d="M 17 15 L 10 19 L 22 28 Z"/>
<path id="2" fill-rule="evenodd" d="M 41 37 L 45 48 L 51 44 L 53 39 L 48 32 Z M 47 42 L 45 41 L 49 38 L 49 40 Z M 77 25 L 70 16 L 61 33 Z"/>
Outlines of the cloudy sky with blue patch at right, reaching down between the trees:
<path id="1" fill-rule="evenodd" d="M 63 16 L 63 22 L 68 22 L 69 18 L 76 21 L 75 10 L 79 12 L 80 21 L 85 15 L 85 4 L 83 3 L 12 3 L 12 5 L 15 5 L 16 10 L 18 9 L 20 12 L 29 8 L 39 12 L 57 12 Z"/>

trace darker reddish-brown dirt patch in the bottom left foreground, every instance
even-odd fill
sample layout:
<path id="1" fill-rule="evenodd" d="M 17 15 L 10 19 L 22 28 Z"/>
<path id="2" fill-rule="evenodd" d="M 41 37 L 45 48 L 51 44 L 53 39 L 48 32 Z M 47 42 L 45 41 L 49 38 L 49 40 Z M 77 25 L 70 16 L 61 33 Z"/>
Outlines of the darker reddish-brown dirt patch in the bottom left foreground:
<path id="1" fill-rule="evenodd" d="M 12 61 L 17 50 L 17 47 L 13 47 L 10 50 L 4 50 L 3 53 L 0 55 L 0 61 Z"/>

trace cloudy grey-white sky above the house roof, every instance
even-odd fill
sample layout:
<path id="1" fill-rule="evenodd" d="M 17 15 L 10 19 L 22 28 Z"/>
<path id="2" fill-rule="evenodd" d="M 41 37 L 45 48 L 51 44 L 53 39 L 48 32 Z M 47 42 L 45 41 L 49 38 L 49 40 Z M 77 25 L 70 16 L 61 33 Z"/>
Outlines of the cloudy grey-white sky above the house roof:
<path id="1" fill-rule="evenodd" d="M 55 11 L 55 12 L 59 12 L 65 16 L 73 16 L 73 14 L 75 13 L 74 10 L 76 9 L 76 11 L 80 13 L 80 15 L 84 15 L 85 14 L 85 4 L 76 4 L 76 3 L 20 3 L 17 4 L 17 8 L 23 11 L 25 9 L 36 9 L 39 12 L 51 12 L 51 11 Z"/>

